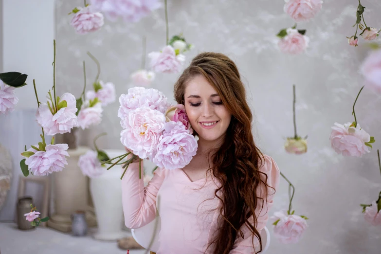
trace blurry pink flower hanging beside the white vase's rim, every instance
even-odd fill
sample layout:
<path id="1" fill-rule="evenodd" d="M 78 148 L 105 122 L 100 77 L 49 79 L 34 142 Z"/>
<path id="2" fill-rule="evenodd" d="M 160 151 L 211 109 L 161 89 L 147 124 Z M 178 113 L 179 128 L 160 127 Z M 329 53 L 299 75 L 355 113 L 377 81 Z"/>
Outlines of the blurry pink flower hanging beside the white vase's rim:
<path id="1" fill-rule="evenodd" d="M 97 152 L 89 150 L 79 157 L 78 166 L 82 174 L 90 178 L 96 178 L 106 172 L 106 168 L 101 165 L 97 155 Z"/>

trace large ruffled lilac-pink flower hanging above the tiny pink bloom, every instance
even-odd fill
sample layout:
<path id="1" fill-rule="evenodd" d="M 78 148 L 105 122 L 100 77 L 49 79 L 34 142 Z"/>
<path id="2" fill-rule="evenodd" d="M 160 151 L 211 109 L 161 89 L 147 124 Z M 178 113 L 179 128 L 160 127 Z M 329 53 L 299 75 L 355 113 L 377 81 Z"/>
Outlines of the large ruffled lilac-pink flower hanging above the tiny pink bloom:
<path id="1" fill-rule="evenodd" d="M 38 145 L 35 145 L 38 147 Z M 35 176 L 47 176 L 53 172 L 62 171 L 67 165 L 66 157 L 69 157 L 66 151 L 69 148 L 67 144 L 47 145 L 46 151 L 36 151 L 34 148 L 29 148 L 27 151 L 34 152 L 25 160 L 28 169 Z"/>

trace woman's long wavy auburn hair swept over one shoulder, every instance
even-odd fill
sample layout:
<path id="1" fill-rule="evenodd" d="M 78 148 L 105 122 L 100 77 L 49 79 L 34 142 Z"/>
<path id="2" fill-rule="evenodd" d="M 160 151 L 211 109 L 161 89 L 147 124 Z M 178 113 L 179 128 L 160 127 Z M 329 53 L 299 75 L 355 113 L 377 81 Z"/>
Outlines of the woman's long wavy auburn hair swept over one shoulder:
<path id="1" fill-rule="evenodd" d="M 222 203 L 219 208 L 222 220 L 218 223 L 218 232 L 207 249 L 215 243 L 214 254 L 228 254 L 238 233 L 240 237 L 244 237 L 241 227 L 246 224 L 253 233 L 253 247 L 256 236 L 262 251 L 261 236 L 256 230 L 255 209 L 260 203 L 262 209 L 264 200 L 257 197 L 256 190 L 261 183 L 268 186 L 267 175 L 258 170 L 263 154 L 254 144 L 251 129 L 253 115 L 246 101 L 244 85 L 236 64 L 229 57 L 213 52 L 201 53 L 193 58 L 175 84 L 177 103 L 185 103 L 186 83 L 197 75 L 203 75 L 208 80 L 218 92 L 223 105 L 232 114 L 224 141 L 212 155 L 208 169 L 212 170 L 214 177 L 221 183 L 215 196 Z M 261 174 L 265 175 L 265 181 L 261 179 Z M 267 188 L 264 189 L 266 199 Z M 219 190 L 222 190 L 222 196 L 217 194 Z M 249 221 L 251 217 L 254 225 Z"/>

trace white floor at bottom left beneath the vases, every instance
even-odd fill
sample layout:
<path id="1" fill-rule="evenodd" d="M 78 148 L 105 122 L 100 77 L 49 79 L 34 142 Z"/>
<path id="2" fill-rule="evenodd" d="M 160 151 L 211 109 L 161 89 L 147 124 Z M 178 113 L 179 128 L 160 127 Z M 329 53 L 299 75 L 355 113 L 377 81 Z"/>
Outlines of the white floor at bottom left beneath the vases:
<path id="1" fill-rule="evenodd" d="M 118 248 L 117 242 L 95 240 L 87 236 L 77 237 L 51 228 L 37 227 L 19 230 L 16 223 L 0 223 L 1 254 L 127 254 Z M 126 236 L 131 236 L 126 231 Z M 144 254 L 145 250 L 129 250 L 129 254 Z M 148 252 L 149 253 L 149 252 Z"/>

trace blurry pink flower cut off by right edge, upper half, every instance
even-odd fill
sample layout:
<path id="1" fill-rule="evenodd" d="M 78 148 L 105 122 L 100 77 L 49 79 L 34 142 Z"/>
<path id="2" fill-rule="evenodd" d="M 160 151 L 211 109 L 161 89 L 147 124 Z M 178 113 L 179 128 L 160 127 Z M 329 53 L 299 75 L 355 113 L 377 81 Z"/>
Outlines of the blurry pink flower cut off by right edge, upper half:
<path id="1" fill-rule="evenodd" d="M 364 60 L 361 72 L 365 87 L 381 94 L 381 50 L 372 51 Z"/>

